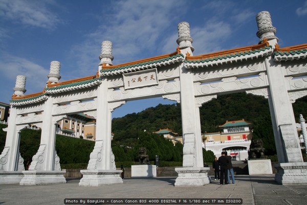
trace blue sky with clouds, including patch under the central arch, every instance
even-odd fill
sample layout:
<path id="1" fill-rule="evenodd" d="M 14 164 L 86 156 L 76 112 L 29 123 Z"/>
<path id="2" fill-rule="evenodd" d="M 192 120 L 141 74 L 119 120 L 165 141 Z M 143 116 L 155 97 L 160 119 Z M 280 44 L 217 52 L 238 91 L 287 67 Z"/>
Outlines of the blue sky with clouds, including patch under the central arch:
<path id="1" fill-rule="evenodd" d="M 172 53 L 181 21 L 189 22 L 194 55 L 257 44 L 260 11 L 271 13 L 281 48 L 307 42 L 307 1 L 0 0 L 0 102 L 10 103 L 17 75 L 27 77 L 26 95 L 41 92 L 53 60 L 60 81 L 95 75 L 104 40 L 115 65 Z M 174 102 L 127 102 L 113 117 L 159 103 Z"/>

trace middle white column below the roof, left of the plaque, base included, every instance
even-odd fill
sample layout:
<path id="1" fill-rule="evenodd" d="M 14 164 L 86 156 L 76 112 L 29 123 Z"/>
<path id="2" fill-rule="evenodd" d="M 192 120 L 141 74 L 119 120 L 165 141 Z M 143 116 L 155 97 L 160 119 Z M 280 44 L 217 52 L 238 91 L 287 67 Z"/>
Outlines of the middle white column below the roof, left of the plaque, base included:
<path id="1" fill-rule="evenodd" d="M 107 102 L 107 78 L 98 87 L 96 142 L 90 155 L 86 170 L 81 170 L 83 177 L 79 186 L 102 186 L 123 183 L 116 170 L 115 157 L 111 149 L 112 114 Z"/>

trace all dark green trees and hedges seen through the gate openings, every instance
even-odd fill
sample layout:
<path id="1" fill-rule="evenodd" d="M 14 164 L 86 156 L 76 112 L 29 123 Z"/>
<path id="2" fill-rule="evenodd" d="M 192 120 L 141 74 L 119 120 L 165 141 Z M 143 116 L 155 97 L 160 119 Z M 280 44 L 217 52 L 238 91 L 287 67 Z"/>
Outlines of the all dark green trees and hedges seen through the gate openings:
<path id="1" fill-rule="evenodd" d="M 299 122 L 299 114 L 307 117 L 307 97 L 296 100 L 292 104 L 295 121 Z M 266 155 L 276 153 L 274 134 L 270 116 L 268 100 L 246 95 L 244 93 L 218 96 L 217 99 L 204 104 L 200 108 L 202 132 L 222 131 L 219 125 L 228 121 L 242 120 L 252 123 L 254 138 L 262 139 Z M 6 132 L 0 124 L 0 152 L 5 146 Z M 131 113 L 112 121 L 112 150 L 116 162 L 138 161 L 139 147 L 146 147 L 151 162 L 155 156 L 160 156 L 160 162 L 182 162 L 182 144 L 173 146 L 172 142 L 163 136 L 152 134 L 159 129 L 169 128 L 182 135 L 180 104 L 149 107 L 139 113 Z M 146 132 L 144 132 L 146 130 Z M 40 130 L 25 129 L 21 132 L 19 150 L 24 158 L 25 167 L 29 166 L 32 156 L 37 152 L 40 144 Z M 56 151 L 61 164 L 76 164 L 89 162 L 94 142 L 57 135 Z M 213 153 L 203 150 L 204 162 L 213 161 Z"/>

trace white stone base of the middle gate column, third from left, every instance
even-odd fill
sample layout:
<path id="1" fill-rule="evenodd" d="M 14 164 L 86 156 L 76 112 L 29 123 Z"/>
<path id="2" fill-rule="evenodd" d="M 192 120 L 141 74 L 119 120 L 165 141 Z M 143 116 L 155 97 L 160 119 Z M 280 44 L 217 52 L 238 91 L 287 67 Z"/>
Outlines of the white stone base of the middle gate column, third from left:
<path id="1" fill-rule="evenodd" d="M 79 186 L 104 186 L 122 184 L 121 170 L 81 170 Z"/>

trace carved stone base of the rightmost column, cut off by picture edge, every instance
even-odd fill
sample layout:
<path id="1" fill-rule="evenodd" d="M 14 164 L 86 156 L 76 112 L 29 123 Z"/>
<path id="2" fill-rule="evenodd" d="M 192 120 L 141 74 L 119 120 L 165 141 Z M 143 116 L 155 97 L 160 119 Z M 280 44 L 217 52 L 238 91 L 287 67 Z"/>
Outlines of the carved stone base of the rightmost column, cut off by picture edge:
<path id="1" fill-rule="evenodd" d="M 275 181 L 281 185 L 307 185 L 307 163 L 279 163 L 274 165 L 277 169 Z"/>

